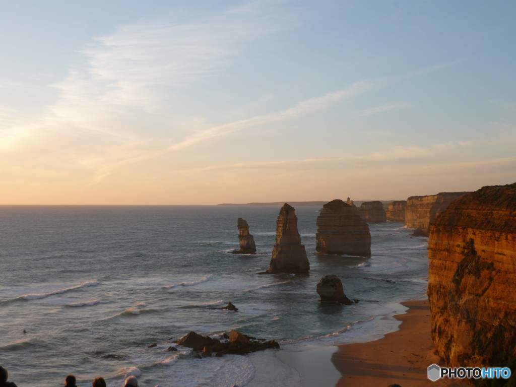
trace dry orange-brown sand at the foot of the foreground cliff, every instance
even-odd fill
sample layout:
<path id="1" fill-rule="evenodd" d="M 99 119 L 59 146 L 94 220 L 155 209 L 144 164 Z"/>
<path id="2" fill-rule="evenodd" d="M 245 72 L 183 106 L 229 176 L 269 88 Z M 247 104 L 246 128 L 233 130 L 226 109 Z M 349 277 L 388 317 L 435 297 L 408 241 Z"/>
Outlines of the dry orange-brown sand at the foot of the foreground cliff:
<path id="1" fill-rule="evenodd" d="M 394 316 L 401 321 L 398 331 L 374 342 L 341 345 L 333 353 L 331 362 L 342 374 L 336 387 L 386 387 L 393 383 L 401 387 L 470 386 L 462 381 L 428 380 L 427 367 L 442 362 L 434 354 L 430 337 L 428 300 L 402 304 L 409 310 Z"/>

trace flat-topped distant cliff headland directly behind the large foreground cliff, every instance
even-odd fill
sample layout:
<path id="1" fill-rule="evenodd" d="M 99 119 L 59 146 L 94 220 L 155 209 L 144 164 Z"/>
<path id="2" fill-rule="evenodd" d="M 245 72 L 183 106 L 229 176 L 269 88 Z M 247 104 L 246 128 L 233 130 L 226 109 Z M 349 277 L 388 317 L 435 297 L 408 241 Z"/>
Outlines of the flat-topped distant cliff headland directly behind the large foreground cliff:
<path id="1" fill-rule="evenodd" d="M 469 192 L 440 192 L 437 195 L 411 196 L 405 206 L 405 227 L 416 229 L 414 236 L 428 236 L 430 222 L 454 200 Z"/>

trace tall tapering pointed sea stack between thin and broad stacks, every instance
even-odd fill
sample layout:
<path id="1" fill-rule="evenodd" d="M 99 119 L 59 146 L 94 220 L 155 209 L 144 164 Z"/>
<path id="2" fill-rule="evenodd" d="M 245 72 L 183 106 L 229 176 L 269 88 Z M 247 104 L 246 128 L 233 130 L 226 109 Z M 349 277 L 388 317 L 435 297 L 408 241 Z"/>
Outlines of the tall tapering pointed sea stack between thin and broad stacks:
<path id="1" fill-rule="evenodd" d="M 307 252 L 297 231 L 297 216 L 293 206 L 285 203 L 276 220 L 276 244 L 267 273 L 306 273 L 310 270 Z"/>

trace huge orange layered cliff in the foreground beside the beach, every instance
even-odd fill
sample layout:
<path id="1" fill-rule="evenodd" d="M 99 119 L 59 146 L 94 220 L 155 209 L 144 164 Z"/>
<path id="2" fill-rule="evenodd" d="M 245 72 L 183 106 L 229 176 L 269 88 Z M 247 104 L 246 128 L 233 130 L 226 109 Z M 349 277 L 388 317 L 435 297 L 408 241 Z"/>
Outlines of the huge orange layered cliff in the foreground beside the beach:
<path id="1" fill-rule="evenodd" d="M 430 224 L 432 338 L 451 367 L 516 356 L 516 183 L 482 187 Z"/>

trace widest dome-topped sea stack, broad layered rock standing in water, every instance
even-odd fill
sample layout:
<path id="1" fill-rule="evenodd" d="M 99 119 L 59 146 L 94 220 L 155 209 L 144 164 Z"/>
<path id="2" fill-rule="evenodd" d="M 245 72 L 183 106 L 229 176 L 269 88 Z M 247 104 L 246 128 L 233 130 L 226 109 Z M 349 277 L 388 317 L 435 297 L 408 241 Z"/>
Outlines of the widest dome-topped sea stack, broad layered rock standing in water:
<path id="1" fill-rule="evenodd" d="M 317 217 L 316 250 L 321 254 L 370 255 L 369 225 L 356 207 L 340 199 L 322 206 Z"/>

